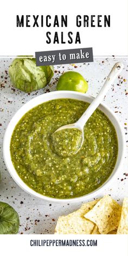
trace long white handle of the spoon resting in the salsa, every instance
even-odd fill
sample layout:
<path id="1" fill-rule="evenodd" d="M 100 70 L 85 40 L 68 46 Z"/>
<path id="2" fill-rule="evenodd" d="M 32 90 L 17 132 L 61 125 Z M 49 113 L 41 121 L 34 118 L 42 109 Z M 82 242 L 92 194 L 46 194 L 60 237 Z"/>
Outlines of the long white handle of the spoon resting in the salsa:
<path id="1" fill-rule="evenodd" d="M 98 93 L 97 97 L 92 101 L 92 103 L 89 105 L 85 113 L 82 114 L 80 119 L 76 122 L 77 125 L 81 127 L 81 129 L 84 128 L 89 117 L 92 116 L 93 112 L 96 110 L 96 108 L 99 106 L 101 101 L 104 99 L 108 89 L 110 89 L 110 86 L 112 85 L 114 79 L 116 79 L 116 77 L 120 74 L 123 67 L 124 65 L 121 62 L 118 62 L 114 65 L 110 74 L 108 74 L 103 87 L 100 89 L 100 92 Z"/>

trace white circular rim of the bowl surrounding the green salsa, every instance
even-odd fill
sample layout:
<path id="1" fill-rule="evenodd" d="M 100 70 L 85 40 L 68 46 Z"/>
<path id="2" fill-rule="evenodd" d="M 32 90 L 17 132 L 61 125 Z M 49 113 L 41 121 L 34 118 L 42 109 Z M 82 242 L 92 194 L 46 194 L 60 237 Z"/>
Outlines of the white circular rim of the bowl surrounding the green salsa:
<path id="1" fill-rule="evenodd" d="M 10 156 L 10 141 L 8 142 L 7 140 L 7 137 L 8 137 L 8 134 L 10 133 L 10 126 L 12 125 L 13 126 L 13 121 L 15 118 L 17 118 L 17 123 L 18 121 L 23 117 L 23 115 L 25 113 L 27 113 L 30 109 L 32 109 L 33 107 L 37 106 L 37 105 L 40 105 L 41 103 L 38 103 L 38 99 L 43 99 L 45 98 L 46 96 L 49 95 L 49 99 L 47 100 L 44 100 L 44 102 L 47 102 L 47 101 L 50 101 L 50 100 L 53 100 L 53 99 L 50 99 L 50 95 L 60 95 L 60 97 L 58 98 L 54 98 L 54 99 L 62 99 L 62 98 L 65 98 L 66 97 L 62 97 L 63 94 L 67 94 L 67 97 L 69 97 L 69 95 L 78 95 L 80 97 L 85 97 L 85 99 L 88 99 L 88 100 L 93 100 L 94 97 L 90 96 L 90 95 L 86 95 L 84 93 L 80 93 L 80 92 L 74 92 L 74 91 L 54 91 L 54 92 L 48 92 L 46 94 L 41 94 L 29 101 L 27 101 L 27 103 L 23 104 L 22 107 L 20 107 L 18 109 L 18 111 L 16 111 L 16 113 L 14 114 L 14 116 L 11 118 L 11 120 L 9 121 L 9 124 L 7 126 L 7 129 L 5 130 L 5 133 L 4 133 L 4 140 L 3 140 L 3 157 L 4 157 L 4 162 L 5 162 L 5 165 L 11 175 L 11 177 L 13 178 L 13 180 L 18 184 L 18 186 L 23 189 L 25 192 L 27 192 L 28 194 L 34 196 L 34 197 L 37 197 L 38 199 L 42 199 L 42 200 L 45 200 L 45 201 L 49 201 L 49 202 L 54 202 L 54 203 L 73 203 L 73 202 L 80 202 L 80 201 L 85 201 L 85 200 L 89 200 L 91 199 L 92 197 L 95 197 L 97 196 L 98 194 L 101 193 L 101 191 L 104 189 L 106 189 L 108 187 L 108 185 L 110 185 L 112 183 L 112 181 L 116 178 L 120 168 L 121 168 L 121 165 L 123 164 L 123 158 L 124 158 L 124 150 L 125 150 L 125 143 L 124 143 L 124 133 L 123 133 L 123 129 L 119 123 L 119 120 L 118 118 L 114 115 L 113 111 L 108 107 L 106 106 L 104 103 L 101 103 L 98 108 L 104 108 L 108 113 L 111 114 L 111 116 L 113 117 L 113 120 L 116 121 L 117 125 L 118 125 L 118 130 L 120 132 L 120 144 L 121 144 L 121 151 L 119 152 L 119 145 L 118 145 L 118 156 L 117 156 L 117 161 L 118 161 L 118 158 L 120 157 L 120 161 L 118 163 L 118 166 L 117 166 L 117 169 L 112 171 L 111 175 L 108 177 L 108 179 L 105 181 L 105 183 L 103 183 L 98 189 L 92 191 L 91 193 L 87 194 L 87 195 L 83 195 L 83 196 L 79 196 L 79 197 L 74 197 L 72 199 L 57 199 L 57 198 L 53 198 L 53 197 L 48 197 L 48 196 L 44 196 L 40 193 L 37 193 L 35 190 L 31 189 L 27 184 L 25 184 L 22 179 L 20 178 L 20 176 L 18 176 L 15 168 L 14 168 L 14 165 L 12 164 L 12 161 L 11 161 L 11 156 Z M 46 97 L 47 98 L 47 97 Z M 73 99 L 73 98 L 72 98 Z M 74 97 L 74 99 L 76 99 Z M 81 100 L 81 101 L 84 101 L 82 99 L 78 99 L 78 100 Z M 24 111 L 24 114 L 22 114 L 22 117 L 18 118 L 18 114 L 22 111 L 22 110 L 25 110 L 25 107 L 26 106 L 30 106 L 31 103 L 33 103 L 34 101 L 36 101 L 36 104 L 35 106 L 33 107 L 30 107 L 29 110 L 27 111 Z M 101 110 L 103 111 L 103 110 Z M 103 111 L 104 112 L 104 111 Z M 105 113 L 106 114 L 106 113 Z M 107 116 L 107 114 L 106 114 Z M 108 116 L 107 116 L 108 119 L 110 119 Z M 16 124 L 17 124 L 16 123 Z M 112 120 L 111 120 L 111 123 L 113 124 Z M 14 131 L 14 128 L 16 126 L 16 124 L 14 125 L 13 127 L 13 130 L 12 132 Z M 114 124 L 113 124 L 114 126 Z M 115 130 L 117 132 L 117 127 L 115 127 Z M 10 138 L 11 138 L 11 135 L 12 135 L 12 132 L 10 133 Z M 118 133 L 117 133 L 117 138 L 118 138 L 118 144 L 119 144 L 119 137 L 118 137 Z M 9 152 L 9 156 L 7 154 L 7 152 Z M 9 160 L 11 161 L 11 167 L 9 166 Z M 117 164 L 117 162 L 116 162 Z"/>

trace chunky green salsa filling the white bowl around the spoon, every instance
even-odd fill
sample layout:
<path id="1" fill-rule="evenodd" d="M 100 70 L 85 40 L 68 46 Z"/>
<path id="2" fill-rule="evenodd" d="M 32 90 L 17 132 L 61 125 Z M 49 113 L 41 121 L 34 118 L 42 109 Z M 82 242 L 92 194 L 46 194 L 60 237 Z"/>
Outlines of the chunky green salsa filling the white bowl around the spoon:
<path id="1" fill-rule="evenodd" d="M 61 150 L 57 151 L 54 132 L 75 123 L 88 106 L 74 99 L 50 100 L 32 108 L 17 123 L 10 143 L 12 163 L 23 182 L 37 193 L 58 199 L 78 197 L 91 193 L 111 175 L 117 161 L 117 134 L 98 109 L 84 127 L 85 139 L 78 153 L 69 154 L 69 133 L 59 136 Z M 76 147 L 77 134 L 73 139 Z"/>

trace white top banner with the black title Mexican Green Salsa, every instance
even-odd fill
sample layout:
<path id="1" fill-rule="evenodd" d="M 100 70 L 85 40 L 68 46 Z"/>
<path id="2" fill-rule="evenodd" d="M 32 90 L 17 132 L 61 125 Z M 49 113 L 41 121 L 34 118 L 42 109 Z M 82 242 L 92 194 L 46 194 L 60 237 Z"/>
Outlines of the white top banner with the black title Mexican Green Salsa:
<path id="1" fill-rule="evenodd" d="M 0 55 L 85 47 L 93 55 L 127 55 L 127 24 L 127 0 L 2 0 Z"/>

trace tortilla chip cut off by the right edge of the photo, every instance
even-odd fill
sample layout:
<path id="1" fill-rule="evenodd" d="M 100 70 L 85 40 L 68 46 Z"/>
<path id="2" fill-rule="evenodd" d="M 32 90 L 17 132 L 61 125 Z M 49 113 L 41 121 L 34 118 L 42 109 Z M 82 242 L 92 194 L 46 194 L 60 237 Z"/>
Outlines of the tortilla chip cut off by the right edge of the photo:
<path id="1" fill-rule="evenodd" d="M 117 234 L 128 234 L 128 198 L 124 198 Z"/>

